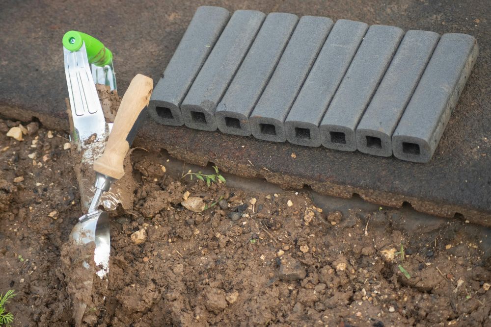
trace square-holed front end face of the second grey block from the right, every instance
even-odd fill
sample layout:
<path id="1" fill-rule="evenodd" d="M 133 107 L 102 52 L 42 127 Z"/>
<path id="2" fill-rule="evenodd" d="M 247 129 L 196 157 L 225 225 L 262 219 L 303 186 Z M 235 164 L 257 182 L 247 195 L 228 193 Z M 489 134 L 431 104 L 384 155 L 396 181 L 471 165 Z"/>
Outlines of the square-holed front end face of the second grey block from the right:
<path id="1" fill-rule="evenodd" d="M 392 155 L 390 135 L 373 129 L 356 129 L 356 148 L 358 151 L 382 157 Z"/>

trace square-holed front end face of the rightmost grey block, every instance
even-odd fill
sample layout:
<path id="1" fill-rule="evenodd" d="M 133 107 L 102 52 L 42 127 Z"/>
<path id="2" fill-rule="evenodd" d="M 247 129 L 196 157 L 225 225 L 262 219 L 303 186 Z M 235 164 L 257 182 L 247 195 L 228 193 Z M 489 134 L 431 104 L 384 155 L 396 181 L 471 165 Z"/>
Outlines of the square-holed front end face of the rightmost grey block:
<path id="1" fill-rule="evenodd" d="M 418 137 L 393 135 L 392 151 L 398 159 L 428 163 L 435 152 L 435 148 L 432 150 L 428 142 Z"/>

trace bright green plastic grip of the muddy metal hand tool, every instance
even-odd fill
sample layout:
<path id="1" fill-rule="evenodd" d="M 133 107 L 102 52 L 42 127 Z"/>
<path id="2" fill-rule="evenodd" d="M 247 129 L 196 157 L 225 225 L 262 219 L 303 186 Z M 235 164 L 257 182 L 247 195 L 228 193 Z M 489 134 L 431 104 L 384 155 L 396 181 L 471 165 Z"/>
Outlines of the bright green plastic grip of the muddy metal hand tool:
<path id="1" fill-rule="evenodd" d="M 78 51 L 83 43 L 89 63 L 101 67 L 110 64 L 112 52 L 95 37 L 78 31 L 68 31 L 63 35 L 63 47 L 69 51 Z"/>

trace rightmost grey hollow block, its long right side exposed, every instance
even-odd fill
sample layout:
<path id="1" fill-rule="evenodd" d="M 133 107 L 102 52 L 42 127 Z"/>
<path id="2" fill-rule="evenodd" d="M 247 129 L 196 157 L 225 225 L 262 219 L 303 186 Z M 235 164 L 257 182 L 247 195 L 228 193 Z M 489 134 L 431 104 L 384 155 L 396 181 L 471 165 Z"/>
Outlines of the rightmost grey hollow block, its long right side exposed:
<path id="1" fill-rule="evenodd" d="M 429 162 L 478 55 L 476 39 L 443 34 L 392 135 L 402 160 Z"/>

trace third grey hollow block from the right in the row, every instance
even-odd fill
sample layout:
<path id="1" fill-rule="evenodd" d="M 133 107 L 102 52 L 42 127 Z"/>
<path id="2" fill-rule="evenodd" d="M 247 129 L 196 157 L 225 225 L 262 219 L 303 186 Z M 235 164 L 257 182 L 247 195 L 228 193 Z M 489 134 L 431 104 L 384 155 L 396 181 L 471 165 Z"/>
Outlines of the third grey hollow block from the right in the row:
<path id="1" fill-rule="evenodd" d="M 394 26 L 372 25 L 368 28 L 319 126 L 323 146 L 356 150 L 356 125 L 403 35 L 403 30 Z"/>

